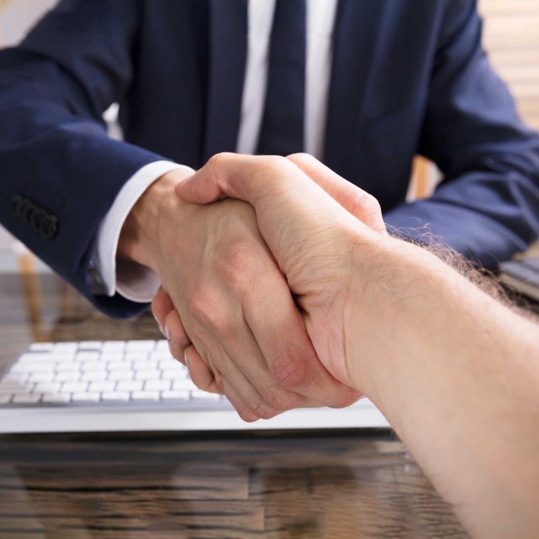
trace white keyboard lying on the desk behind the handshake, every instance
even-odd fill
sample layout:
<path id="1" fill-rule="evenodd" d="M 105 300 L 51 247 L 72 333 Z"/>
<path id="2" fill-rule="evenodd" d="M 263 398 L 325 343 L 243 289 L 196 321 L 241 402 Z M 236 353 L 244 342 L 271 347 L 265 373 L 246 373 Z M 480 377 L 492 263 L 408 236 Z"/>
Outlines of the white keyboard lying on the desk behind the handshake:
<path id="1" fill-rule="evenodd" d="M 0 433 L 387 426 L 366 400 L 245 423 L 196 388 L 166 340 L 34 343 L 0 376 Z"/>

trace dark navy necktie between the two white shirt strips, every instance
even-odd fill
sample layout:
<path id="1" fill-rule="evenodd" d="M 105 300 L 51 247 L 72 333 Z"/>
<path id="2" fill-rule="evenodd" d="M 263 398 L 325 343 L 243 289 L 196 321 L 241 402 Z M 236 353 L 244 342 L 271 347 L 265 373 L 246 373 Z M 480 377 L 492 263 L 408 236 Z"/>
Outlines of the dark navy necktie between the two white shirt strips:
<path id="1" fill-rule="evenodd" d="M 304 151 L 305 0 L 277 0 L 258 153 Z"/>

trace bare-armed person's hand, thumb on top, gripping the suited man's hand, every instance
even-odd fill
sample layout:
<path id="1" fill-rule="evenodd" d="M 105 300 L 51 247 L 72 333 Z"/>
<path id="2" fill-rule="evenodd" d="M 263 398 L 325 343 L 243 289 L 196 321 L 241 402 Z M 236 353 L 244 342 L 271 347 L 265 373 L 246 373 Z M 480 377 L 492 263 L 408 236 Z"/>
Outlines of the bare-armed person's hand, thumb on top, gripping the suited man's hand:
<path id="1" fill-rule="evenodd" d="M 342 231 L 354 230 L 350 237 L 357 241 L 355 228 L 362 221 L 369 226 L 363 227 L 367 235 L 374 234 L 374 241 L 380 233 L 385 235 L 376 199 L 304 154 L 288 159 L 217 155 L 180 184 L 177 194 L 201 204 L 235 196 L 255 206 L 262 234 L 304 311 L 311 340 L 324 355 L 321 360 L 335 377 L 351 385 L 345 343 L 339 333 L 348 305 L 343 282 L 353 277 L 343 252 Z M 168 326 L 174 328 L 172 340 L 182 341 L 181 321 L 171 311 L 164 292 L 157 294 L 152 309 L 158 321 L 166 317 Z M 187 355 L 191 371 L 211 377 L 196 352 L 189 354 L 188 349 Z"/>

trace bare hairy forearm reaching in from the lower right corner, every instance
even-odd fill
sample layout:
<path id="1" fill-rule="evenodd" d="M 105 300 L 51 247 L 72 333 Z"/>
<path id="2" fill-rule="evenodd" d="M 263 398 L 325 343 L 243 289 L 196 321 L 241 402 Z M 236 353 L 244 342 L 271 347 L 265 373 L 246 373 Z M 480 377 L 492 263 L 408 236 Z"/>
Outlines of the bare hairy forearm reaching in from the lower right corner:
<path id="1" fill-rule="evenodd" d="M 415 245 L 389 239 L 370 268 L 357 253 L 345 331 L 357 389 L 472 533 L 535 533 L 537 326 Z"/>

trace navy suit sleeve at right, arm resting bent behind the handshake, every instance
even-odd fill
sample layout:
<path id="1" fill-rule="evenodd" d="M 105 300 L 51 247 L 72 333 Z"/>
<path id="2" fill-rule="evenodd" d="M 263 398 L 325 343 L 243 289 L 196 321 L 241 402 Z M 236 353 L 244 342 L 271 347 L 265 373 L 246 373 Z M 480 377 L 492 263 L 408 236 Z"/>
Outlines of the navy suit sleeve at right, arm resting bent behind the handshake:
<path id="1" fill-rule="evenodd" d="M 445 6 L 419 148 L 444 179 L 430 199 L 384 217 L 405 236 L 421 241 L 427 228 L 496 267 L 539 236 L 539 137 L 489 64 L 476 1 Z"/>

